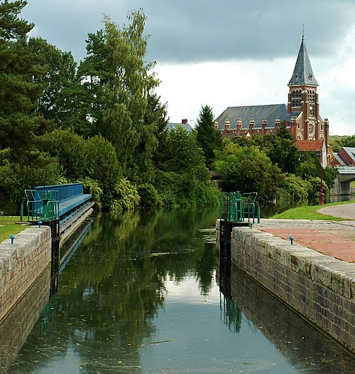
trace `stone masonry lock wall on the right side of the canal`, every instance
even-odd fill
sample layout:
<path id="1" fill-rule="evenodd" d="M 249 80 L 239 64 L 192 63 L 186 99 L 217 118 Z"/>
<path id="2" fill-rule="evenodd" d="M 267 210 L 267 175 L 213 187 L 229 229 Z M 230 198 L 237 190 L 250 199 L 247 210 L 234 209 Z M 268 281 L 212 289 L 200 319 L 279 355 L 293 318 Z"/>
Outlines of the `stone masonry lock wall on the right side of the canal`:
<path id="1" fill-rule="evenodd" d="M 249 228 L 233 229 L 231 262 L 355 352 L 355 263 Z"/>

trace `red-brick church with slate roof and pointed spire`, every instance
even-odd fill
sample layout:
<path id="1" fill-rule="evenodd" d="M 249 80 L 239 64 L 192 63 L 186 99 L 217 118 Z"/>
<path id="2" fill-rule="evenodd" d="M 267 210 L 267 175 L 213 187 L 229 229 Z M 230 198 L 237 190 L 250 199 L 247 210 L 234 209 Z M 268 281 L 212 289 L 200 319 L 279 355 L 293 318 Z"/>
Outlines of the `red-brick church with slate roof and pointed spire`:
<path id="1" fill-rule="evenodd" d="M 226 137 L 267 134 L 285 122 L 300 152 L 313 151 L 322 166 L 329 164 L 329 122 L 320 117 L 317 80 L 302 35 L 293 75 L 288 82 L 288 103 L 230 106 L 216 119 L 215 127 Z"/>

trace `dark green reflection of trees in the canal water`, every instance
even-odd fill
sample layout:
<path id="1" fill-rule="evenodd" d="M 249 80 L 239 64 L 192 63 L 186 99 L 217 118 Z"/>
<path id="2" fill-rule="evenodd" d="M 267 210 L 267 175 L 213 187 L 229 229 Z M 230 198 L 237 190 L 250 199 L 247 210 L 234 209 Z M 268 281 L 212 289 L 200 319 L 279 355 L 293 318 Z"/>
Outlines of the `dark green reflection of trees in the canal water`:
<path id="1" fill-rule="evenodd" d="M 84 373 L 137 368 L 164 305 L 165 280 L 193 273 L 202 294 L 212 287 L 215 247 L 197 235 L 216 218 L 216 210 L 188 209 L 98 215 L 21 351 L 26 372 L 68 351 L 87 362 Z"/>

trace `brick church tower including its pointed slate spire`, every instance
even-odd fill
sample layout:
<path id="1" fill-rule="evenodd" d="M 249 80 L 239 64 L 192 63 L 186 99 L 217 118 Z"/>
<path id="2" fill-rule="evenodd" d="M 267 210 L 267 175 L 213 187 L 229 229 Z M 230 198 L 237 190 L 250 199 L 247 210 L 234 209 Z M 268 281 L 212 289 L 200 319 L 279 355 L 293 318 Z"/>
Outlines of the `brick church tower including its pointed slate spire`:
<path id="1" fill-rule="evenodd" d="M 288 113 L 297 117 L 297 140 L 323 139 L 327 147 L 328 120 L 323 121 L 320 117 L 317 86 L 305 45 L 305 35 L 302 35 L 295 69 L 288 82 Z"/>

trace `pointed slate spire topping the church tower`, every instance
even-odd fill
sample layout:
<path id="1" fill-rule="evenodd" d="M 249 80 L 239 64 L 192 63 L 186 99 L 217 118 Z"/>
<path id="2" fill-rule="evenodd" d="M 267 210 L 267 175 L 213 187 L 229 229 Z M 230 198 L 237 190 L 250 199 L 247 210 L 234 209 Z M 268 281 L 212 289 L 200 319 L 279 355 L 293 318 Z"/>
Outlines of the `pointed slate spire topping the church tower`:
<path id="1" fill-rule="evenodd" d="M 302 42 L 300 50 L 293 70 L 292 78 L 288 82 L 288 86 L 318 86 L 317 81 L 313 75 L 312 66 L 310 64 L 310 58 L 308 57 L 307 48 L 305 45 L 305 33 L 302 33 Z"/>

